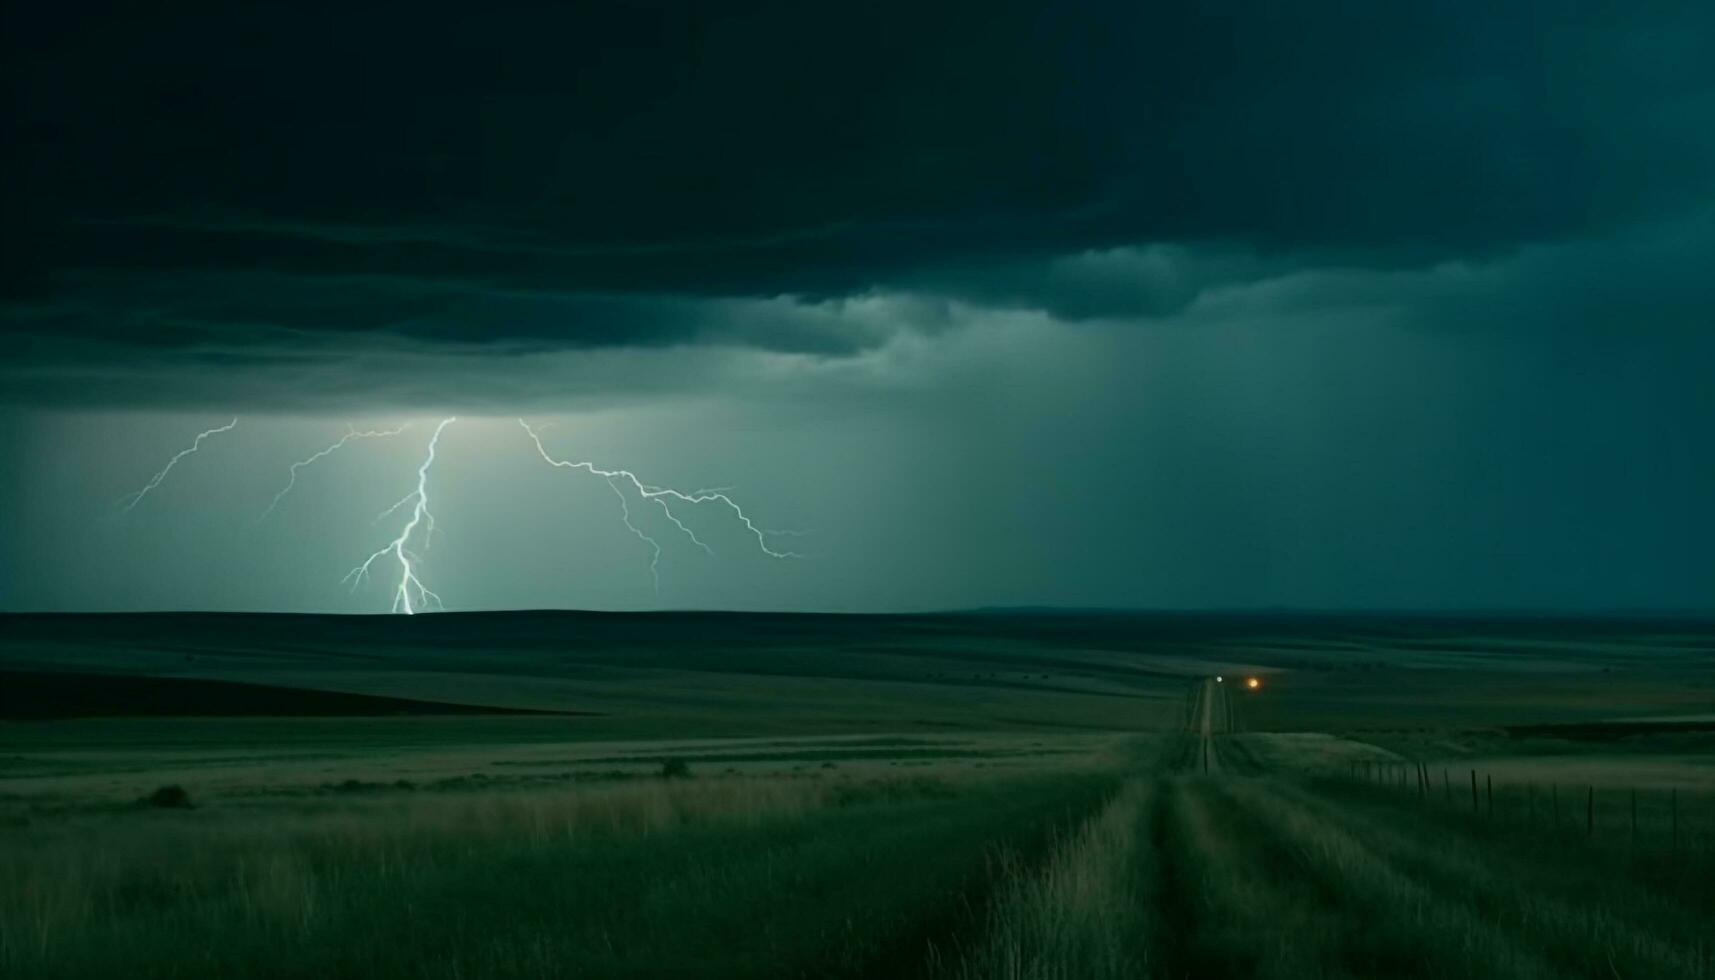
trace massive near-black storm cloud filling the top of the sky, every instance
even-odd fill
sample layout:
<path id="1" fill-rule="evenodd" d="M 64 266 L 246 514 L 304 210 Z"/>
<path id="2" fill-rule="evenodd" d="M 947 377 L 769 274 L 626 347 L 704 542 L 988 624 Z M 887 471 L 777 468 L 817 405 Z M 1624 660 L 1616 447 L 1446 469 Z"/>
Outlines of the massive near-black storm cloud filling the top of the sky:
<path id="1" fill-rule="evenodd" d="M 1600 251 L 1705 208 L 1715 175 L 1706 3 L 5 19 L 0 330 L 38 366 L 851 354 L 885 326 L 823 300 L 1168 316 L 1327 268 L 1362 293 Z M 1708 257 L 1688 242 L 1667 266 Z M 1566 312 L 1521 288 L 1544 302 L 1492 319 Z"/>

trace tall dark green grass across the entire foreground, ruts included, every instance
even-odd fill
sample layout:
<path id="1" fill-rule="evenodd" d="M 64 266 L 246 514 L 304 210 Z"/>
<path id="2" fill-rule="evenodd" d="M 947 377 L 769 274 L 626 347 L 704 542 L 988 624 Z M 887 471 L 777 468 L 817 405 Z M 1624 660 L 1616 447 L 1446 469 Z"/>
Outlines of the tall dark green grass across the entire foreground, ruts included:
<path id="1" fill-rule="evenodd" d="M 1701 853 L 1350 779 L 722 777 L 0 827 L 0 977 L 1715 977 Z M 1226 759 L 1245 760 L 1228 753 Z M 1261 762 L 1257 762 L 1261 765 Z"/>

